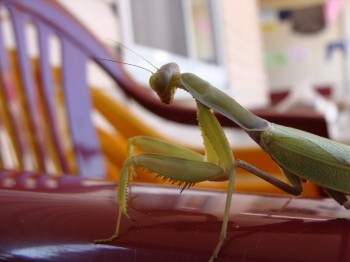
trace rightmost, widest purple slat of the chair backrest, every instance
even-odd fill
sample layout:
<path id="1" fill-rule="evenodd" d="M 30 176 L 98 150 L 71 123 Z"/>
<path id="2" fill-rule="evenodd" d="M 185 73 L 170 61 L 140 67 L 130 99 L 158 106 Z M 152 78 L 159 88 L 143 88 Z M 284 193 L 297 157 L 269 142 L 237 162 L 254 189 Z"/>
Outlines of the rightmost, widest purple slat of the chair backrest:
<path id="1" fill-rule="evenodd" d="M 62 82 L 73 150 L 86 177 L 102 177 L 99 143 L 91 122 L 91 101 L 87 90 L 87 55 L 65 38 L 62 41 Z"/>

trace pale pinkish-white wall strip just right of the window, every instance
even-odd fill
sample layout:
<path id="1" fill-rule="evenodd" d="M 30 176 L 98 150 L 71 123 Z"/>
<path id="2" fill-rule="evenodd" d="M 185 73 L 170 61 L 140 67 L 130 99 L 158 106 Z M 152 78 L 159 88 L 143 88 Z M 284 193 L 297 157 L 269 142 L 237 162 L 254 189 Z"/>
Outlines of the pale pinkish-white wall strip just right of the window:
<path id="1" fill-rule="evenodd" d="M 232 95 L 241 104 L 268 104 L 257 0 L 222 0 L 223 36 Z M 254 96 L 252 96 L 254 94 Z"/>

